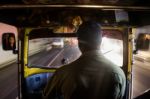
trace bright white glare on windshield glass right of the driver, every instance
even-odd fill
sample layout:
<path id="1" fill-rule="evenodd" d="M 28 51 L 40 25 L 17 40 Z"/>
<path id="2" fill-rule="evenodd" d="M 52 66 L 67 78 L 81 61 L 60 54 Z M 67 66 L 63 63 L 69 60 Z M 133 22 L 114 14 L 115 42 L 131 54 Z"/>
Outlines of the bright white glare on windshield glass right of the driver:
<path id="1" fill-rule="evenodd" d="M 104 56 L 117 66 L 123 65 L 123 42 L 122 40 L 103 37 L 101 51 Z"/>

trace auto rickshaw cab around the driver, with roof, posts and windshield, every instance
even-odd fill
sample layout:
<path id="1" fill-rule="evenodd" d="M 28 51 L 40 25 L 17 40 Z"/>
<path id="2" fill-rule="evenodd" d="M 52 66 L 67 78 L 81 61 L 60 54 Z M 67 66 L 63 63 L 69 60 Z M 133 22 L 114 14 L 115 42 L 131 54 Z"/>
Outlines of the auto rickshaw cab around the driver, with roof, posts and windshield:
<path id="1" fill-rule="evenodd" d="M 102 25 L 101 51 L 106 58 L 124 71 L 126 76 L 124 99 L 132 99 L 131 29 L 138 24 L 132 24 L 130 18 L 139 15 L 140 11 L 150 10 L 149 7 L 112 6 L 113 3 L 108 6 L 89 3 L 61 4 L 61 2 L 32 5 L 28 0 L 23 1 L 26 1 L 26 5 L 0 6 L 2 12 L 0 15 L 6 17 L 2 21 L 18 28 L 17 48 L 7 49 L 6 43 L 3 43 L 3 46 L 5 50 L 13 50 L 14 54 L 18 54 L 19 99 L 42 99 L 47 81 L 57 68 L 64 65 L 62 60 L 67 59 L 68 64 L 81 55 L 77 47 L 76 32 L 87 20 L 94 20 Z M 139 13 L 136 13 L 137 11 Z M 17 12 L 16 15 L 13 12 Z M 13 18 L 14 22 L 7 20 Z M 54 30 L 59 26 L 63 27 L 63 30 L 57 33 Z M 71 31 L 72 27 L 75 30 Z M 13 33 L 4 34 L 11 36 Z M 46 50 L 50 45 L 55 47 Z M 30 49 L 33 48 L 38 51 L 37 57 L 32 59 Z"/>

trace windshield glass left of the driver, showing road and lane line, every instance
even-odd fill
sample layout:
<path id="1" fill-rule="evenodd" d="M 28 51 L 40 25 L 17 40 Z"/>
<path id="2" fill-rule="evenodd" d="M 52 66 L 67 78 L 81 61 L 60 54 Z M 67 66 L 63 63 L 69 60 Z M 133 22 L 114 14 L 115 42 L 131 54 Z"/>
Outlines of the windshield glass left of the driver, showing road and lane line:
<path id="1" fill-rule="evenodd" d="M 56 68 L 75 61 L 80 55 L 76 38 L 40 38 L 29 41 L 29 66 Z"/>

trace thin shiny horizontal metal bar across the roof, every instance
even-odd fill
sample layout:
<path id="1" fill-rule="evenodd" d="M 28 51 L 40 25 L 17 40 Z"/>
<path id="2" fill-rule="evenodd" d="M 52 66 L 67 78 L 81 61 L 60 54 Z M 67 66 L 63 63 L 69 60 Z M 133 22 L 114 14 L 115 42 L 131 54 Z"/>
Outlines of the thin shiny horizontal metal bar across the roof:
<path id="1" fill-rule="evenodd" d="M 145 6 L 107 6 L 107 5 L 0 5 L 0 9 L 18 8 L 97 8 L 102 10 L 150 10 Z"/>

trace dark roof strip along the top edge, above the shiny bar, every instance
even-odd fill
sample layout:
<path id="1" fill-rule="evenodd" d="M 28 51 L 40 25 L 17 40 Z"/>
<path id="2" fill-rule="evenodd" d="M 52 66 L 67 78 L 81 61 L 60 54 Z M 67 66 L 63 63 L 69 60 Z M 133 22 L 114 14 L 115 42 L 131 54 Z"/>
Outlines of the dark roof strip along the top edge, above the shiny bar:
<path id="1" fill-rule="evenodd" d="M 149 0 L 0 0 L 0 4 L 100 4 L 150 6 Z"/>

